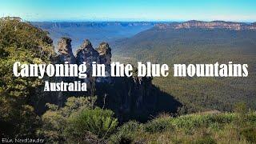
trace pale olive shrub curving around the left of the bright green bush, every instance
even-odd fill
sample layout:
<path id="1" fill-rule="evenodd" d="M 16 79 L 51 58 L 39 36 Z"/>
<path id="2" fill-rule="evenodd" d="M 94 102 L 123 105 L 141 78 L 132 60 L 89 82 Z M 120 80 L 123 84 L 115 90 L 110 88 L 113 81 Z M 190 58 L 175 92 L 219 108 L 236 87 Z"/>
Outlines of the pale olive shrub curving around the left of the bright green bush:
<path id="1" fill-rule="evenodd" d="M 47 139 L 47 142 L 65 142 L 70 141 L 76 135 L 72 127 L 68 126 L 68 119 L 73 113 L 78 113 L 84 109 L 93 109 L 96 97 L 70 97 L 67 99 L 65 106 L 60 108 L 54 104 L 47 103 L 49 110 L 42 115 L 42 127 L 38 129 L 38 136 Z M 88 137 L 90 139 L 97 138 L 90 132 L 80 137 Z"/>

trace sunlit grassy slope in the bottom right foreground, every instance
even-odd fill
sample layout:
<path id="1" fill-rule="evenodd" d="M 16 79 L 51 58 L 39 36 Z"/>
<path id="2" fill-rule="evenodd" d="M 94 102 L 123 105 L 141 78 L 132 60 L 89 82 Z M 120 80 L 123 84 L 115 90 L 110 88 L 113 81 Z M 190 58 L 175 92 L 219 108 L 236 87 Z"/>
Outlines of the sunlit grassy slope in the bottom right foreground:
<path id="1" fill-rule="evenodd" d="M 254 143 L 256 114 L 162 115 L 145 124 L 127 122 L 110 142 L 138 143 Z"/>

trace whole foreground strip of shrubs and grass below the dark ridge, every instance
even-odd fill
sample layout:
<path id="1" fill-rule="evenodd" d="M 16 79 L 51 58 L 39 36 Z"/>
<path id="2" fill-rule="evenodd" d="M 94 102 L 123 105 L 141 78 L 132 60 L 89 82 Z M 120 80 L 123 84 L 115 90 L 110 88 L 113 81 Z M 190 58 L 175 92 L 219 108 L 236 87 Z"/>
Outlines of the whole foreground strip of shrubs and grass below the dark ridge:
<path id="1" fill-rule="evenodd" d="M 256 113 L 244 103 L 234 113 L 160 114 L 149 122 L 118 125 L 114 113 L 94 107 L 94 98 L 69 98 L 49 105 L 38 130 L 47 142 L 68 143 L 255 143 Z"/>

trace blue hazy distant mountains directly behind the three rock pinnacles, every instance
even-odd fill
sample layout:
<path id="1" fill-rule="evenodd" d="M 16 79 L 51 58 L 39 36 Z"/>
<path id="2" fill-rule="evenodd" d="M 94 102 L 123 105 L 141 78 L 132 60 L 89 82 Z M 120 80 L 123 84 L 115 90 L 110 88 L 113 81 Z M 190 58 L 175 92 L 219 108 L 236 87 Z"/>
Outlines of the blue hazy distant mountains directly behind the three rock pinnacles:
<path id="1" fill-rule="evenodd" d="M 93 45 L 100 42 L 114 42 L 119 38 L 129 38 L 143 30 L 152 28 L 156 22 L 31 22 L 32 25 L 46 30 L 54 40 L 61 37 L 72 38 L 73 49 L 77 49 L 84 39 Z"/>

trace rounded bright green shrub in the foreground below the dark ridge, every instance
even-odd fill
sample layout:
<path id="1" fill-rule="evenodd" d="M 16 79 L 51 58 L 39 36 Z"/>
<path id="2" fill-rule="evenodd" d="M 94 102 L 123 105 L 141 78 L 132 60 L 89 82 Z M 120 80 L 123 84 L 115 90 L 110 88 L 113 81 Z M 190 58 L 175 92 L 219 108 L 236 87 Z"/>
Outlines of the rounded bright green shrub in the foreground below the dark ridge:
<path id="1" fill-rule="evenodd" d="M 75 135 L 82 136 L 86 132 L 90 132 L 98 136 L 98 138 L 108 138 L 118 126 L 118 119 L 114 118 L 111 110 L 102 110 L 96 108 L 94 110 L 81 110 L 72 114 L 69 118 L 70 129 Z"/>

